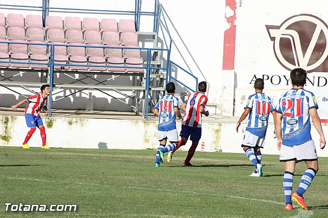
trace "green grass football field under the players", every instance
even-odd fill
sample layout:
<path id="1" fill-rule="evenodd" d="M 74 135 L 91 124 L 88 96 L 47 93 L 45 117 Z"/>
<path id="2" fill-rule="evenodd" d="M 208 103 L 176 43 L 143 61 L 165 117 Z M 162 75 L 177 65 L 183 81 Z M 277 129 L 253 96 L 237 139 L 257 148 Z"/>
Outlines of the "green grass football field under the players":
<path id="1" fill-rule="evenodd" d="M 2 217 L 327 217 L 328 159 L 304 195 L 310 211 L 285 211 L 283 164 L 263 155 L 264 177 L 248 177 L 244 154 L 186 151 L 154 167 L 155 150 L 0 147 Z M 296 190 L 305 164 L 294 176 Z M 76 212 L 6 212 L 12 204 L 76 204 Z M 294 204 L 296 206 L 296 204 Z"/>

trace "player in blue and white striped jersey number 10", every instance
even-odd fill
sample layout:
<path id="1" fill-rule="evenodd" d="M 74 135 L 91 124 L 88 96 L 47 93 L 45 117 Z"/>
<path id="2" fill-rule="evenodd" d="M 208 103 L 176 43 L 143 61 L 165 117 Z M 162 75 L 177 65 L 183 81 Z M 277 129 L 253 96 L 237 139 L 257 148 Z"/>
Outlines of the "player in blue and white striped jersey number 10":
<path id="1" fill-rule="evenodd" d="M 275 116 L 272 99 L 262 93 L 264 89 L 263 79 L 256 79 L 254 82 L 255 94 L 251 95 L 244 107 L 244 112 L 239 118 L 236 131 L 240 123 L 249 115 L 249 122 L 245 129 L 241 147 L 245 151 L 247 157 L 255 166 L 255 171 L 251 177 L 262 176 L 262 154 L 260 148 L 264 146 L 265 134 L 267 133 L 269 114 Z M 254 151 L 252 150 L 254 149 Z"/>

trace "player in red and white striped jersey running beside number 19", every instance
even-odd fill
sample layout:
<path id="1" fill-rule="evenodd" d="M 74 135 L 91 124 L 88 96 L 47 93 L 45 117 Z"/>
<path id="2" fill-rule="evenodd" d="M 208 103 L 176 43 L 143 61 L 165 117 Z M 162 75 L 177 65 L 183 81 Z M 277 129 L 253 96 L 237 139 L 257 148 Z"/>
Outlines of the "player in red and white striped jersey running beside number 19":
<path id="1" fill-rule="evenodd" d="M 208 100 L 207 96 L 205 95 L 206 90 L 206 81 L 200 82 L 198 84 L 198 92 L 190 94 L 187 100 L 181 106 L 182 111 L 185 112 L 185 116 L 183 117 L 183 123 L 181 126 L 181 140 L 178 142 L 178 146 L 174 149 L 174 151 L 176 151 L 180 146 L 185 145 L 189 136 L 190 140 L 192 141 L 192 145 L 188 151 L 187 158 L 182 163 L 182 166 L 193 166 L 190 163 L 190 160 L 195 154 L 195 150 L 201 137 L 201 115 L 210 115 L 208 111 L 205 111 L 205 104 Z M 171 161 L 174 151 L 169 152 L 167 157 L 168 160 Z"/>

